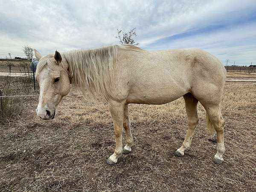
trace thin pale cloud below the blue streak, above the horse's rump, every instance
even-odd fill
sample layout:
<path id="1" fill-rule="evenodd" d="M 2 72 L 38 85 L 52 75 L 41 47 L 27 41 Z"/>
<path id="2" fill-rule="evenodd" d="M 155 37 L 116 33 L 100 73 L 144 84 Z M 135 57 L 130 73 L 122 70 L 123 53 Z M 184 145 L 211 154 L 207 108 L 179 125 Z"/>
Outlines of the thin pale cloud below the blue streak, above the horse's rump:
<path id="1" fill-rule="evenodd" d="M 229 58 L 237 64 L 248 65 L 256 61 L 256 25 L 244 24 L 239 27 L 224 28 L 217 32 L 207 32 L 186 36 L 157 44 L 151 49 L 175 49 L 185 47 L 198 47 L 204 49 L 217 57 L 224 63 Z"/>

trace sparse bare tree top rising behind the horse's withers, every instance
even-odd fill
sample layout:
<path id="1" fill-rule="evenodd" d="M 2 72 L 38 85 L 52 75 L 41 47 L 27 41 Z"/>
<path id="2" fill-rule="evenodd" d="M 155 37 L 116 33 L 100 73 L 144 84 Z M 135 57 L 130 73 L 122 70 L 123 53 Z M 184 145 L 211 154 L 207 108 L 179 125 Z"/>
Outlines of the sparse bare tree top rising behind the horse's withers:
<path id="1" fill-rule="evenodd" d="M 119 43 L 120 44 L 139 45 L 139 43 L 136 43 L 134 41 L 134 37 L 137 36 L 135 29 L 136 28 L 133 28 L 129 32 L 123 32 L 122 30 L 117 29 L 118 36 L 116 36 L 116 38 L 119 39 Z"/>

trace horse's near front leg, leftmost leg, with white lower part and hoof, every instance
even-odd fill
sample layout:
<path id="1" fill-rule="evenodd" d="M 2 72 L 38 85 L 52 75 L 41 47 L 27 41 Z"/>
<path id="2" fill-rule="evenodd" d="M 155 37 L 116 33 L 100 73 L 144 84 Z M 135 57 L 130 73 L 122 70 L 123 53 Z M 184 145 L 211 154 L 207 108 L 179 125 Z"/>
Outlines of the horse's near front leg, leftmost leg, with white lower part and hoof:
<path id="1" fill-rule="evenodd" d="M 114 134 L 116 136 L 116 149 L 114 153 L 108 158 L 107 163 L 113 165 L 117 162 L 118 157 L 122 156 L 122 129 L 124 116 L 124 102 L 110 101 L 109 111 L 113 118 Z"/>

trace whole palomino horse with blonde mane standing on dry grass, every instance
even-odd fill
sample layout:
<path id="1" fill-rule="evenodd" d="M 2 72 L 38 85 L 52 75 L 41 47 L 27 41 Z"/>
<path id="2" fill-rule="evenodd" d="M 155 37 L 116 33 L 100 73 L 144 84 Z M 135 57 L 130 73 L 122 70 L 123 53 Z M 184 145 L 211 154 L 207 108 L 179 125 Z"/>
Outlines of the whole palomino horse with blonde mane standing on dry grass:
<path id="1" fill-rule="evenodd" d="M 201 49 L 172 49 L 148 52 L 131 45 L 113 45 L 99 49 L 76 50 L 38 58 L 36 78 L 40 85 L 37 115 L 53 119 L 55 108 L 70 91 L 70 84 L 108 103 L 113 118 L 116 148 L 108 164 L 131 152 L 133 137 L 128 104 L 160 105 L 183 96 L 188 116 L 185 140 L 175 151 L 183 156 L 191 144 L 198 124 L 198 101 L 207 112 L 207 127 L 217 132 L 217 153 L 213 162 L 223 162 L 224 119 L 220 103 L 226 70 L 213 55 Z M 122 129 L 126 145 L 122 148 Z"/>

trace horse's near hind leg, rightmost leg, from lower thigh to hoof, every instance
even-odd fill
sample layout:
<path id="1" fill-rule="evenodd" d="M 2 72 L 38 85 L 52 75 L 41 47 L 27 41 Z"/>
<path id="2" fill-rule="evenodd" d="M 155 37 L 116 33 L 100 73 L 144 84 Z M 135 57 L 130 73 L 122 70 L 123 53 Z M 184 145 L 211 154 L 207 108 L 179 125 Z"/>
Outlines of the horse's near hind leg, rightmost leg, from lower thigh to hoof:
<path id="1" fill-rule="evenodd" d="M 224 146 L 224 124 L 225 121 L 222 118 L 220 105 L 204 105 L 207 115 L 209 116 L 210 122 L 215 128 L 217 133 L 217 153 L 212 158 L 213 163 L 221 164 L 223 160 L 223 154 L 225 152 Z"/>

